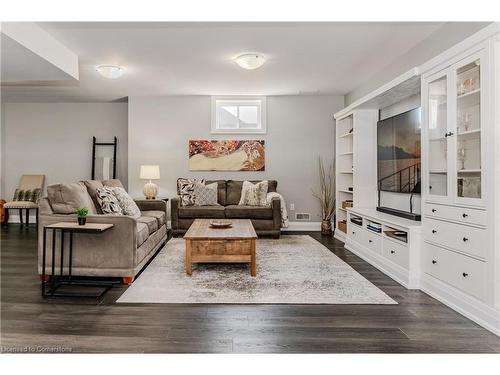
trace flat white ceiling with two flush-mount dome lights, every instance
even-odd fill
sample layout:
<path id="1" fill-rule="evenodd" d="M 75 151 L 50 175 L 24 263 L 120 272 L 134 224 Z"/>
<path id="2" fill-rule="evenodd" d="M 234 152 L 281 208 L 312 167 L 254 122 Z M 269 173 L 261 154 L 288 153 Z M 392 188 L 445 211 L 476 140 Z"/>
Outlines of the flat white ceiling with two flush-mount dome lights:
<path id="1" fill-rule="evenodd" d="M 21 102 L 106 102 L 150 95 L 344 95 L 443 25 L 38 23 L 79 56 L 80 83 L 2 86 L 2 95 L 4 101 Z M 257 70 L 241 69 L 232 59 L 243 52 L 262 52 L 268 61 Z M 95 71 L 99 64 L 121 65 L 126 72 L 109 80 Z"/>

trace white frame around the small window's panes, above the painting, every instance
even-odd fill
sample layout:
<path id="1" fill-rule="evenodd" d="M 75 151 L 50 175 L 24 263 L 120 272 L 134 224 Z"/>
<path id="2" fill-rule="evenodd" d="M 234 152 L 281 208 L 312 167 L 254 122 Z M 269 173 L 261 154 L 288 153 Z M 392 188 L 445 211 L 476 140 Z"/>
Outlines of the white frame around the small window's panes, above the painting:
<path id="1" fill-rule="evenodd" d="M 226 106 L 245 106 L 257 105 L 258 115 L 257 124 L 260 122 L 260 127 L 255 129 L 249 128 L 235 128 L 235 129 L 220 129 L 218 128 L 217 110 L 221 105 Z M 212 121 L 211 132 L 212 134 L 266 134 L 267 133 L 267 110 L 266 110 L 266 97 L 265 96 L 212 96 Z M 239 120 L 239 119 L 238 119 Z"/>

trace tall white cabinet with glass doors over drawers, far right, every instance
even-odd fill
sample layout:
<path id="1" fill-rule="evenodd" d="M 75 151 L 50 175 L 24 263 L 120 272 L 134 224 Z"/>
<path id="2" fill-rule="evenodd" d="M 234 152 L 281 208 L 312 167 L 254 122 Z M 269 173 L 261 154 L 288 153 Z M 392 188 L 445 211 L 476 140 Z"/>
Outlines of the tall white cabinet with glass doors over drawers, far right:
<path id="1" fill-rule="evenodd" d="M 421 289 L 499 333 L 495 43 L 447 56 L 422 75 Z"/>

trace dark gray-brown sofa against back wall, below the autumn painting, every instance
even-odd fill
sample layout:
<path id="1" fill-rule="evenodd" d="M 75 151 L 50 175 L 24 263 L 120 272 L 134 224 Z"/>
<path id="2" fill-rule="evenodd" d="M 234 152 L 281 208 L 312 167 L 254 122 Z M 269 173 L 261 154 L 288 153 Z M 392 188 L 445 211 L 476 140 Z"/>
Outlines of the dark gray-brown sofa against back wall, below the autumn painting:
<path id="1" fill-rule="evenodd" d="M 281 207 L 279 198 L 273 198 L 269 207 L 239 206 L 243 181 L 214 180 L 217 182 L 217 203 L 220 206 L 182 206 L 179 197 L 171 200 L 172 234 L 186 233 L 195 219 L 251 219 L 259 236 L 278 238 L 281 233 Z M 260 181 L 252 181 L 257 183 Z M 269 180 L 269 192 L 275 192 L 278 182 Z M 179 192 L 177 192 L 179 194 Z"/>

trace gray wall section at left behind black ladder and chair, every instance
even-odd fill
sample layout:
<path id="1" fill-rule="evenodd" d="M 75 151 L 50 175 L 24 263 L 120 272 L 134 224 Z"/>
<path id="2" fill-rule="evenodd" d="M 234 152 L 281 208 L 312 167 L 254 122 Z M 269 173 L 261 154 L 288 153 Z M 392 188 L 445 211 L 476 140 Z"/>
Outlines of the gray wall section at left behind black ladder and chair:
<path id="1" fill-rule="evenodd" d="M 45 186 L 90 178 L 92 136 L 118 137 L 117 177 L 127 183 L 127 103 L 4 103 L 2 192 L 12 199 L 22 174 Z"/>

